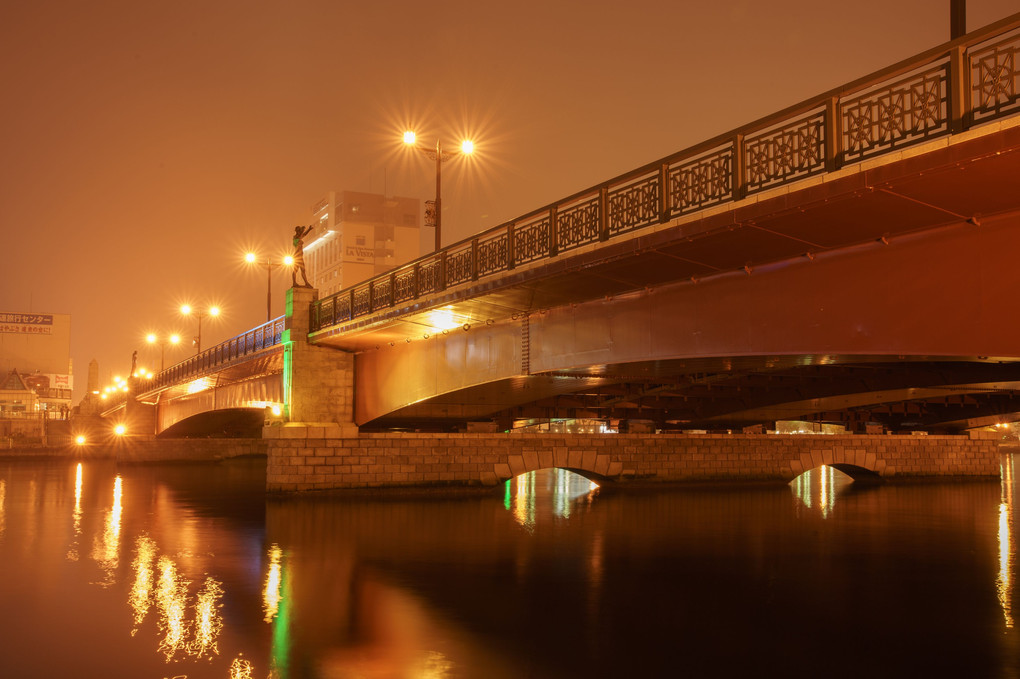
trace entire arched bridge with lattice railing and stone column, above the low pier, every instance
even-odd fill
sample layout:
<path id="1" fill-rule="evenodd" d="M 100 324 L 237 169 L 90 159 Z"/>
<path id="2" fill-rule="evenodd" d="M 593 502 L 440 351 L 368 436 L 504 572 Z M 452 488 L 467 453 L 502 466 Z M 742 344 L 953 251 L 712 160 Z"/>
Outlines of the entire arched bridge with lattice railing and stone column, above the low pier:
<path id="1" fill-rule="evenodd" d="M 344 435 L 1020 419 L 1018 52 L 1020 14 L 337 295 L 293 289 L 137 400 L 159 431 L 275 406 Z"/>

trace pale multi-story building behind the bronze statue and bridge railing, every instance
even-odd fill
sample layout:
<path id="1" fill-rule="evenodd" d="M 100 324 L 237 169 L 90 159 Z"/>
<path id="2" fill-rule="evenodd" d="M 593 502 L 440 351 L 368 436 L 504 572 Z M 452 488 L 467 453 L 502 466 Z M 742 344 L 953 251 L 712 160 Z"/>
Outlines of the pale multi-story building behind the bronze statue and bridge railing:
<path id="1" fill-rule="evenodd" d="M 330 191 L 312 206 L 305 237 L 308 281 L 333 295 L 421 254 L 420 202 L 357 191 Z"/>

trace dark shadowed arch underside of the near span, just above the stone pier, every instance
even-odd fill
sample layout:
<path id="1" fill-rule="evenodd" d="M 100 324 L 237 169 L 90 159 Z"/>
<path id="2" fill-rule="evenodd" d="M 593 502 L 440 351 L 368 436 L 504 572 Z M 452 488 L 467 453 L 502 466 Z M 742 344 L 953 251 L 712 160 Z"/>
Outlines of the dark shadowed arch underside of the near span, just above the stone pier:
<path id="1" fill-rule="evenodd" d="M 490 420 L 502 429 L 595 420 L 718 430 L 802 420 L 857 431 L 880 424 L 953 432 L 1020 419 L 1020 364 L 854 358 L 673 360 L 602 366 L 601 377 L 521 376 L 437 397 L 362 428 L 457 430 Z M 522 391 L 543 396 L 514 403 Z"/>

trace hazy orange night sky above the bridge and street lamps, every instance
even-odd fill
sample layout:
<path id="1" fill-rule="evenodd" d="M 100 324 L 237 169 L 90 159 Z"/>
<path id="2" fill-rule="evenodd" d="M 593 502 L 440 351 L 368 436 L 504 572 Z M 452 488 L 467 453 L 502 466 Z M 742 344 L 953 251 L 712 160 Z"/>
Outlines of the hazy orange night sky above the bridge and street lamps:
<path id="1" fill-rule="evenodd" d="M 444 167 L 449 244 L 945 42 L 949 5 L 4 3 L 0 311 L 71 315 L 76 403 L 91 359 L 105 380 L 158 362 L 146 332 L 193 334 L 185 301 L 224 310 L 205 347 L 264 321 L 243 252 L 326 191 L 430 198 L 408 125 L 476 142 Z"/>

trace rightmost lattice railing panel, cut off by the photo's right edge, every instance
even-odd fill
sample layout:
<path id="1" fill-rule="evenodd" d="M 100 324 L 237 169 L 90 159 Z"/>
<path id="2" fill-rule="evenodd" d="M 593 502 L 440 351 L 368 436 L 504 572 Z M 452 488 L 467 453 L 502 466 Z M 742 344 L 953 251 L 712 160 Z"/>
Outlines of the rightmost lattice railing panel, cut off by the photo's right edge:
<path id="1" fill-rule="evenodd" d="M 971 115 L 983 122 L 1020 109 L 1020 34 L 970 52 Z"/>

